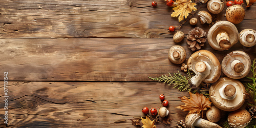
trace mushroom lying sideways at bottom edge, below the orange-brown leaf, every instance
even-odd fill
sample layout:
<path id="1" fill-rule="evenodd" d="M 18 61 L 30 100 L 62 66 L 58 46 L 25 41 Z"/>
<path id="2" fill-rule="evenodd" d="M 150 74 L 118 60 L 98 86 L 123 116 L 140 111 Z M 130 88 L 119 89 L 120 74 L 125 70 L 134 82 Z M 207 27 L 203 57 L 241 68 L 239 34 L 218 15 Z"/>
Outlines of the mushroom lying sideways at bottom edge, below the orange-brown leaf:
<path id="1" fill-rule="evenodd" d="M 187 127 L 202 127 L 202 128 L 220 128 L 216 123 L 210 122 L 208 120 L 200 118 L 200 115 L 197 113 L 187 114 L 185 118 L 185 124 Z"/>

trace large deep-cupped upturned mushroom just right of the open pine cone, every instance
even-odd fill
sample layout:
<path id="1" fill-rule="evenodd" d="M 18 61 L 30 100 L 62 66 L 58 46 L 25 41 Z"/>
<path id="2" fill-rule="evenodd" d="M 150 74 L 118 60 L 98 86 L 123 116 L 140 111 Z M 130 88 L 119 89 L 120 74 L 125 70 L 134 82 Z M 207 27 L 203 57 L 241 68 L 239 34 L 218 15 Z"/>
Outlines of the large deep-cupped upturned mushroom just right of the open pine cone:
<path id="1" fill-rule="evenodd" d="M 220 21 L 214 24 L 208 31 L 209 45 L 215 50 L 228 50 L 238 42 L 239 33 L 232 23 Z"/>

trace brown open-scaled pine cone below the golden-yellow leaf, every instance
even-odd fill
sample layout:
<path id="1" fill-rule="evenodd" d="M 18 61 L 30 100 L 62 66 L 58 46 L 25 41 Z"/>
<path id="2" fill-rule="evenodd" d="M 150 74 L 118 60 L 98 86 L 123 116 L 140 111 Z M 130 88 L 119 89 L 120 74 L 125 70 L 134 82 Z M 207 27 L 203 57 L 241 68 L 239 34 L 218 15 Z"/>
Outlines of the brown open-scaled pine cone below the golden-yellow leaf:
<path id="1" fill-rule="evenodd" d="M 205 35 L 206 32 L 199 27 L 189 31 L 187 35 L 188 48 L 192 51 L 200 50 L 201 46 L 204 46 L 204 42 L 206 42 L 206 38 L 204 37 Z"/>

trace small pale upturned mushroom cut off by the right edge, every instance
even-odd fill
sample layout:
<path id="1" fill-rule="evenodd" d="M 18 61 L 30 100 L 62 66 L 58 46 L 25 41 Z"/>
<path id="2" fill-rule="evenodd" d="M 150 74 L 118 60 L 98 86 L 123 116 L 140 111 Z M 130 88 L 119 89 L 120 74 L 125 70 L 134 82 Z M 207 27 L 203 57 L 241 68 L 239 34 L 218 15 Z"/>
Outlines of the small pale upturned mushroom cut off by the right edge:
<path id="1" fill-rule="evenodd" d="M 256 45 L 256 31 L 253 29 L 244 29 L 239 33 L 239 41 L 245 47 Z"/>

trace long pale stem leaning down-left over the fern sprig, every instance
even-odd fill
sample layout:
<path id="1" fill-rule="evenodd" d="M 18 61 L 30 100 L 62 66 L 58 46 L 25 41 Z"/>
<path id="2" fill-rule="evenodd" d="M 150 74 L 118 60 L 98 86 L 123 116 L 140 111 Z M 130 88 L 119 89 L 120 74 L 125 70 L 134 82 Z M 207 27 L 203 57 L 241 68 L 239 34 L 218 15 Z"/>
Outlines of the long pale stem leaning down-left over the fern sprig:
<path id="1" fill-rule="evenodd" d="M 190 79 L 191 84 L 199 87 L 200 83 L 210 74 L 210 65 L 206 61 L 197 62 L 195 69 L 198 72 Z"/>

